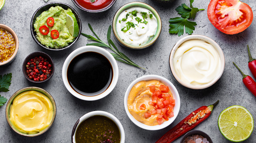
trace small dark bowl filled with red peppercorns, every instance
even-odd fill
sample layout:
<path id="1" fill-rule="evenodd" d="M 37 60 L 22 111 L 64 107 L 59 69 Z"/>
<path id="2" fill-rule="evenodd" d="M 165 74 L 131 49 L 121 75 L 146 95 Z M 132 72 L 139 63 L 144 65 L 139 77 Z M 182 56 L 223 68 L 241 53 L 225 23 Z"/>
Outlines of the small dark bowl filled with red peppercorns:
<path id="1" fill-rule="evenodd" d="M 27 56 L 22 65 L 25 78 L 33 83 L 48 81 L 54 73 L 52 58 L 44 52 L 34 52 Z"/>

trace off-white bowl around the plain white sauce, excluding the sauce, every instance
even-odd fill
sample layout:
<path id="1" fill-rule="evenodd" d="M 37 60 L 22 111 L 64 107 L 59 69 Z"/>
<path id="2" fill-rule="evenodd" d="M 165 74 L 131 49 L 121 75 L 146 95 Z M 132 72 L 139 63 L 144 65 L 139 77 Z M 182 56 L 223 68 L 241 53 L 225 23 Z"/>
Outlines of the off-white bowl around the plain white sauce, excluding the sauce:
<path id="1" fill-rule="evenodd" d="M 217 51 L 217 53 L 219 54 L 219 57 L 220 57 L 220 61 L 221 61 L 221 70 L 219 71 L 218 75 L 209 83 L 207 84 L 204 84 L 204 85 L 200 85 L 200 86 L 195 86 L 195 85 L 191 85 L 191 84 L 187 84 L 185 82 L 183 82 L 179 77 L 178 75 L 176 74 L 175 70 L 174 70 L 174 66 L 173 66 L 173 56 L 174 56 L 174 53 L 176 52 L 177 48 L 179 48 L 179 46 L 187 41 L 187 40 L 193 40 L 193 39 L 196 39 L 196 40 L 203 40 L 203 41 L 206 41 L 207 43 L 213 45 L 213 47 L 215 48 L 215 50 Z M 214 83 L 216 83 L 222 76 L 222 73 L 224 71 L 224 67 L 225 67 L 225 57 L 224 57 L 224 54 L 223 54 L 223 51 L 221 49 L 221 47 L 212 39 L 210 39 L 209 37 L 206 37 L 206 36 L 203 36 L 203 35 L 189 35 L 189 36 L 186 36 L 186 37 L 183 37 L 181 38 L 175 45 L 174 47 L 172 48 L 172 51 L 171 51 L 171 54 L 170 54 L 170 58 L 169 58 L 169 64 L 170 64 L 170 68 L 171 68 L 171 71 L 172 71 L 172 74 L 173 76 L 175 77 L 175 79 L 183 86 L 185 87 L 188 87 L 188 88 L 191 88 L 191 89 L 204 89 L 204 88 L 207 88 L 207 87 L 210 87 L 212 86 Z"/>

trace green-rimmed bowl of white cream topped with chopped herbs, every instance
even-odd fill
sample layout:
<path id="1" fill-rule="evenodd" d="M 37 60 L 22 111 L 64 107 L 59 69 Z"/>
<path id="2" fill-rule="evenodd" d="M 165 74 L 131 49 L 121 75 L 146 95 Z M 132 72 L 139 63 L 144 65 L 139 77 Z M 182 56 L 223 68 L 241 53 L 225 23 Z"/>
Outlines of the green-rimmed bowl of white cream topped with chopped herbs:
<path id="1" fill-rule="evenodd" d="M 129 49 L 144 49 L 160 36 L 162 22 L 158 12 L 142 2 L 131 2 L 119 8 L 113 19 L 118 43 Z"/>

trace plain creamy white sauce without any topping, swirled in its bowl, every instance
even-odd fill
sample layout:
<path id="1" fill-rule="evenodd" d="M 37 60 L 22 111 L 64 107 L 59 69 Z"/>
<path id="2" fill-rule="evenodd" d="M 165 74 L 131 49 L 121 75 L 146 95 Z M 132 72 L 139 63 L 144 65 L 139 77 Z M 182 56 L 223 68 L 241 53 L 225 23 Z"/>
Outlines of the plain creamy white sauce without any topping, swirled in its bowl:
<path id="1" fill-rule="evenodd" d="M 174 53 L 173 66 L 183 82 L 197 86 L 211 82 L 220 73 L 221 60 L 211 44 L 188 40 Z"/>

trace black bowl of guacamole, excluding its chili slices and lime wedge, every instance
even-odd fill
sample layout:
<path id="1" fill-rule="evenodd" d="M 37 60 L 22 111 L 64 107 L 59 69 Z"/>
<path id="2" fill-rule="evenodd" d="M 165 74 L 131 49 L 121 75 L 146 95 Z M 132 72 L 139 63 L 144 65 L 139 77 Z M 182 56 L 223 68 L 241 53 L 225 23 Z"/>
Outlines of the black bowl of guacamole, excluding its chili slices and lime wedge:
<path id="1" fill-rule="evenodd" d="M 77 20 L 79 33 L 77 37 L 73 37 L 66 26 L 67 12 L 72 12 Z M 47 19 L 54 19 L 53 26 L 48 26 Z M 49 28 L 49 33 L 43 35 L 40 32 L 40 27 L 46 25 Z M 31 35 L 35 42 L 41 47 L 50 51 L 60 51 L 69 48 L 73 45 L 81 34 L 80 17 L 74 8 L 64 3 L 48 3 L 38 8 L 32 16 L 31 20 Z M 53 39 L 51 31 L 58 31 L 58 38 Z"/>

